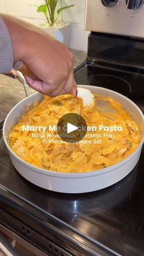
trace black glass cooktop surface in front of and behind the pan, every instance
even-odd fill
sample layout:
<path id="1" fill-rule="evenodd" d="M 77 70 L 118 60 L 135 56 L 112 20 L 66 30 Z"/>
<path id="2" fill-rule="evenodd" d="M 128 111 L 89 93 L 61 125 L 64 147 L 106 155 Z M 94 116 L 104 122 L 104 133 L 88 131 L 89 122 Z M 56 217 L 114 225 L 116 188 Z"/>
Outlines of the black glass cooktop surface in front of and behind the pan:
<path id="1" fill-rule="evenodd" d="M 78 84 L 103 86 L 132 98 L 143 110 L 144 76 L 83 65 Z M 16 172 L 0 137 L 1 187 L 110 248 L 114 255 L 144 255 L 144 148 L 139 163 L 117 184 L 87 194 L 60 194 L 29 183 Z M 23 203 L 21 203 L 23 208 Z"/>

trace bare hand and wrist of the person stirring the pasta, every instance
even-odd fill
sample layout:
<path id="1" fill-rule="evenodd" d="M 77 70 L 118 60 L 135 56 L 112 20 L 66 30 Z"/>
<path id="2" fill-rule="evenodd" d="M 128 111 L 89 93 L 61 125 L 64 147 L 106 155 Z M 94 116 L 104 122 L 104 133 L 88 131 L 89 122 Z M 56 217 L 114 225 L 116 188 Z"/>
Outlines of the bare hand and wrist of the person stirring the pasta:
<path id="1" fill-rule="evenodd" d="M 8 15 L 2 18 L 12 39 L 14 61 L 22 60 L 38 77 L 35 80 L 26 76 L 29 86 L 51 97 L 76 95 L 71 51 L 29 23 Z"/>

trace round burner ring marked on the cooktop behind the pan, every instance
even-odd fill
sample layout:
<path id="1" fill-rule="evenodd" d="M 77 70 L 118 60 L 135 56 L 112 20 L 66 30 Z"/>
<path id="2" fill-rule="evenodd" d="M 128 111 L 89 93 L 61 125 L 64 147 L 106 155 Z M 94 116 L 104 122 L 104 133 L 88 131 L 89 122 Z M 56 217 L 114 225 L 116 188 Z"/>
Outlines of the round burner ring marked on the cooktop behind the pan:
<path id="1" fill-rule="evenodd" d="M 123 78 L 110 75 L 92 75 L 81 79 L 81 84 L 88 84 L 91 86 L 100 86 L 106 89 L 115 90 L 124 96 L 131 93 L 130 84 Z"/>

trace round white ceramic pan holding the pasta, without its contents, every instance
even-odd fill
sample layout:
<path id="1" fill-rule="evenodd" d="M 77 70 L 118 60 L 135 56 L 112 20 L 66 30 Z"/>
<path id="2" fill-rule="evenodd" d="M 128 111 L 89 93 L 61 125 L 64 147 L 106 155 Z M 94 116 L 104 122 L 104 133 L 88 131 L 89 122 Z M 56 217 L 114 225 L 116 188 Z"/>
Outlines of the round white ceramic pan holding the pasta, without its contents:
<path id="1" fill-rule="evenodd" d="M 136 150 L 123 161 L 120 161 L 118 164 L 114 164 L 113 166 L 106 167 L 101 170 L 86 173 L 84 172 L 80 174 L 67 174 L 62 172 L 52 172 L 32 166 L 12 152 L 7 142 L 7 136 L 11 127 L 15 125 L 15 123 L 17 123 L 20 119 L 21 114 L 26 112 L 25 107 L 28 104 L 32 106 L 37 98 L 40 101 L 42 100 L 40 93 L 35 93 L 34 95 L 31 95 L 20 101 L 20 103 L 16 104 L 16 106 L 9 112 L 4 122 L 3 136 L 5 145 L 9 150 L 10 158 L 16 170 L 18 170 L 18 172 L 24 178 L 26 178 L 26 180 L 31 181 L 41 188 L 64 193 L 83 193 L 103 189 L 113 185 L 114 183 L 117 183 L 122 178 L 126 177 L 126 175 L 131 172 L 140 158 L 140 153 L 144 141 L 144 117 L 142 111 L 140 111 L 137 105 L 120 93 L 114 92 L 112 90 L 95 86 L 79 87 L 87 88 L 91 92 L 98 93 L 103 96 L 109 95 L 113 99 L 119 101 L 123 108 L 129 113 L 129 115 L 131 115 L 131 113 L 134 114 L 132 115 L 132 119 L 134 119 L 134 121 L 141 129 L 140 133 L 142 141 L 139 147 L 137 147 Z"/>

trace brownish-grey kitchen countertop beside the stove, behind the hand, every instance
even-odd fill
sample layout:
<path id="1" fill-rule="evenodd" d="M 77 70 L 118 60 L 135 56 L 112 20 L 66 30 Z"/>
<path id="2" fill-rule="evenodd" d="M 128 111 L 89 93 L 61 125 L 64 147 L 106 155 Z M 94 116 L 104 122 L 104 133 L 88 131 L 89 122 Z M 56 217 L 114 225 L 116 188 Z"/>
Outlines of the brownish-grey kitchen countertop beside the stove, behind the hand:
<path id="1" fill-rule="evenodd" d="M 72 51 L 74 54 L 74 68 L 76 68 L 86 59 L 87 53 L 85 51 Z M 36 91 L 30 88 L 29 92 L 32 94 Z M 18 80 L 0 75 L 0 122 L 5 119 L 10 109 L 25 97 L 23 86 Z"/>

